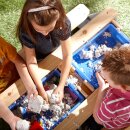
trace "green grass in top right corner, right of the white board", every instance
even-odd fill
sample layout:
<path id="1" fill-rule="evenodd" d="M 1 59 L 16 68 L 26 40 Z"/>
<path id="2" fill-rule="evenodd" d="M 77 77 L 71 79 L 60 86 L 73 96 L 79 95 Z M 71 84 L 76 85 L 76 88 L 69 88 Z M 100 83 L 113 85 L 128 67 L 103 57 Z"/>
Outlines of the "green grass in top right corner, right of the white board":
<path id="1" fill-rule="evenodd" d="M 88 8 L 91 12 L 98 12 L 112 7 L 118 11 L 117 21 L 123 27 L 123 32 L 130 37 L 130 1 L 129 0 L 89 0 Z"/>

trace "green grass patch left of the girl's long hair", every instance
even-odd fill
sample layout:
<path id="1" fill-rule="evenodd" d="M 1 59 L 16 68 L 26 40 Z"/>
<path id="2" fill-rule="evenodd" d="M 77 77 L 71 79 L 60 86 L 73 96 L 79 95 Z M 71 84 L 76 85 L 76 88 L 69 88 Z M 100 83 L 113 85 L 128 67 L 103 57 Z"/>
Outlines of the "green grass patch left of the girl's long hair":
<path id="1" fill-rule="evenodd" d="M 23 3 L 24 0 L 0 0 L 0 36 L 18 50 L 21 45 L 15 37 L 15 32 Z"/>

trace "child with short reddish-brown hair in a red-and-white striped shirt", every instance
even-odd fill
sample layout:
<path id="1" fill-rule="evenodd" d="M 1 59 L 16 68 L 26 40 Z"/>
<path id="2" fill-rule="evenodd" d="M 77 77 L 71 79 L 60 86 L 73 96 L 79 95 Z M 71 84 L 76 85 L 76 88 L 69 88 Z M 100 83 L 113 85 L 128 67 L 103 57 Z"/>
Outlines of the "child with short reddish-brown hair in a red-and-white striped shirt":
<path id="1" fill-rule="evenodd" d="M 105 54 L 99 90 L 93 111 L 95 121 L 105 129 L 121 130 L 130 125 L 130 46 Z"/>

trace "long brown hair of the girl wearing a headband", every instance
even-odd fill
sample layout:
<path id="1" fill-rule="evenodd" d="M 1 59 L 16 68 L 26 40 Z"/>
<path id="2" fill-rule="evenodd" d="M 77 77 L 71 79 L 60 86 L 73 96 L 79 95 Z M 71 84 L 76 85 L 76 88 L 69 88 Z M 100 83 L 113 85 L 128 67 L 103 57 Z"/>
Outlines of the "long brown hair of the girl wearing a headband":
<path id="1" fill-rule="evenodd" d="M 29 10 L 39 7 L 50 8 L 29 12 Z M 20 30 L 23 29 L 35 43 L 35 31 L 30 22 L 34 21 L 39 26 L 47 26 L 55 21 L 58 16 L 59 19 L 57 20 L 55 28 L 64 28 L 66 14 L 60 0 L 26 0 L 19 19 L 16 36 L 20 39 Z"/>

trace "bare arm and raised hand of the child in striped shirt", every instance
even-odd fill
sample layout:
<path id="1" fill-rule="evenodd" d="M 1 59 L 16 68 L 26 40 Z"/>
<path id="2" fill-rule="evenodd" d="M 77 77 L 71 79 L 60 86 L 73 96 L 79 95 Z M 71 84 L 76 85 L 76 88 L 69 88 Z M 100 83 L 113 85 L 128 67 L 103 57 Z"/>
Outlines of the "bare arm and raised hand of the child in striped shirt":
<path id="1" fill-rule="evenodd" d="M 104 79 L 100 76 L 100 74 L 98 72 L 96 73 L 96 77 L 98 80 L 99 88 L 98 88 L 97 100 L 96 100 L 95 107 L 93 110 L 93 117 L 98 124 L 102 124 L 102 122 L 97 117 L 97 111 L 101 105 L 101 102 L 104 98 L 107 88 L 109 87 L 109 84 L 105 83 Z"/>

